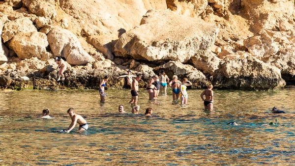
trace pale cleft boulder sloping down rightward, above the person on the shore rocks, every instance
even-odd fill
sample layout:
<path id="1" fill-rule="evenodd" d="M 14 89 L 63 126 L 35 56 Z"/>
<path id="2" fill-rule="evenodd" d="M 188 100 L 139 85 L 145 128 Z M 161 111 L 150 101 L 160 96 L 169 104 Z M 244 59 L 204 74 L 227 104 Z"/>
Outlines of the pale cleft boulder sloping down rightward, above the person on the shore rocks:
<path id="1" fill-rule="evenodd" d="M 71 65 L 86 65 L 95 61 L 81 46 L 78 38 L 69 30 L 53 28 L 47 35 L 51 51 L 63 56 Z"/>

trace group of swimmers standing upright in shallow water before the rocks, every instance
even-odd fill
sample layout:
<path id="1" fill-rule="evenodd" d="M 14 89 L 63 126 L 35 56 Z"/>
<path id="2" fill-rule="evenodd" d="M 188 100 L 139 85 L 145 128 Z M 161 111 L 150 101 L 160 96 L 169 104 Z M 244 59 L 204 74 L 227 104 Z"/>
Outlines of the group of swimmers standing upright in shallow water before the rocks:
<path id="1" fill-rule="evenodd" d="M 139 87 L 138 82 L 142 78 L 141 75 L 131 75 L 131 71 L 127 71 L 127 75 L 119 76 L 119 78 L 127 78 L 127 86 L 130 86 L 131 88 L 131 100 L 129 103 L 131 104 L 137 104 L 138 102 L 138 95 L 139 95 Z M 105 96 L 106 93 L 104 92 L 105 84 L 108 81 L 108 76 L 105 76 L 101 82 L 100 82 L 100 102 L 105 102 Z M 168 78 L 168 76 L 165 74 L 165 71 L 162 70 L 157 75 L 152 76 L 152 78 L 149 79 L 148 85 L 147 85 L 147 91 L 148 91 L 148 99 L 149 100 L 156 100 L 158 95 L 163 92 L 163 95 L 167 95 L 167 86 L 170 86 L 172 88 L 172 96 L 173 101 L 178 103 L 180 100 L 180 105 L 185 106 L 188 101 L 188 94 L 186 91 L 187 86 L 191 86 L 192 83 L 188 81 L 187 78 L 183 78 L 181 81 L 178 80 L 178 77 L 176 75 L 173 76 L 172 80 Z M 201 93 L 201 99 L 204 101 L 204 108 L 212 111 L 213 109 L 213 86 L 212 84 L 209 84 L 207 86 L 207 89 L 204 90 Z M 204 98 L 205 95 L 205 98 Z"/>

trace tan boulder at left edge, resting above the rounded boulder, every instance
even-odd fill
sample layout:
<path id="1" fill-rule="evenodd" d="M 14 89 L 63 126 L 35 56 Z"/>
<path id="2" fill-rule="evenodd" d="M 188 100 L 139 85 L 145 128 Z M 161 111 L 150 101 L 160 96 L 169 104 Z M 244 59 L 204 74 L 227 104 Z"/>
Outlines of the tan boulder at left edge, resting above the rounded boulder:
<path id="1" fill-rule="evenodd" d="M 5 23 L 1 37 L 5 43 L 6 41 L 12 39 L 12 37 L 19 32 L 35 31 L 37 31 L 37 28 L 33 25 L 33 22 L 30 21 L 29 18 L 24 17 Z"/>

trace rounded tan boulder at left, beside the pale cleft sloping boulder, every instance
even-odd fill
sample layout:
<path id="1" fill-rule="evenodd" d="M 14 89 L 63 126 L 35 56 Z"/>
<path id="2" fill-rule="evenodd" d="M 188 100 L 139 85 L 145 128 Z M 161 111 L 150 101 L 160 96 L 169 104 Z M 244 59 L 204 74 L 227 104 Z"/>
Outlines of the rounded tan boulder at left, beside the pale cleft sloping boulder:
<path id="1" fill-rule="evenodd" d="M 41 59 L 47 54 L 47 46 L 47 37 L 41 32 L 19 32 L 9 41 L 9 48 L 21 59 L 31 57 Z"/>

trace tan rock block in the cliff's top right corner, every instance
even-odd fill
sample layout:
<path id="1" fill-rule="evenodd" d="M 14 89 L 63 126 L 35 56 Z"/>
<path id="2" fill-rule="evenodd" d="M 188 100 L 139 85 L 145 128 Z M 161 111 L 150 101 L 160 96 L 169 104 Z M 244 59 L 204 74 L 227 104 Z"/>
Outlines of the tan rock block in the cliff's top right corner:
<path id="1" fill-rule="evenodd" d="M 279 27 L 280 20 L 289 19 L 294 11 L 294 0 L 241 0 L 241 5 L 254 32 Z"/>

